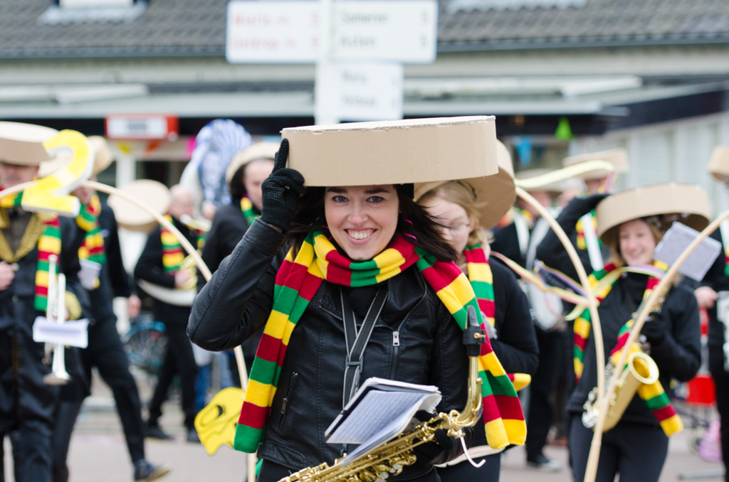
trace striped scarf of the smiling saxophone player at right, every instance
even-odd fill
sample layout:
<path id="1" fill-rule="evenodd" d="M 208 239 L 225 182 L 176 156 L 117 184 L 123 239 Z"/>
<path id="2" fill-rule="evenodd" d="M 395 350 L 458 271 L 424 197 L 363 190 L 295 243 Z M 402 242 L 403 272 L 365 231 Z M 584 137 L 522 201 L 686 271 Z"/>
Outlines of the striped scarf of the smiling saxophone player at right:
<path id="1" fill-rule="evenodd" d="M 658 267 L 663 272 L 666 272 L 668 269 L 668 266 L 660 261 L 655 261 L 654 266 Z M 601 269 L 599 272 L 593 272 L 589 277 L 590 286 L 594 287 L 597 285 L 599 280 L 603 279 L 607 274 L 615 271 L 616 269 L 620 268 L 616 266 L 615 263 L 609 263 L 606 264 L 604 269 Z M 617 281 L 617 278 L 615 278 L 615 280 Z M 648 277 L 646 289 L 643 293 L 644 300 L 650 296 L 653 289 L 659 282 L 660 280 L 655 276 Z M 612 290 L 613 285 L 615 285 L 615 282 L 608 285 L 601 291 L 601 293 L 596 293 L 598 303 L 605 299 L 608 293 Z M 633 324 L 634 320 L 629 320 L 628 323 L 625 323 L 618 332 L 617 344 L 615 345 L 615 348 L 612 349 L 612 352 L 610 352 L 610 360 L 613 365 L 616 365 L 620 359 L 620 354 L 623 347 L 625 347 L 625 342 L 628 341 L 628 336 L 630 336 Z M 577 320 L 574 320 L 574 375 L 577 378 L 577 382 L 580 382 L 580 377 L 582 376 L 582 362 L 585 358 L 585 347 L 587 346 L 588 337 L 590 336 L 590 328 L 592 328 L 590 310 L 585 309 L 580 317 L 577 317 Z M 631 347 L 631 352 L 639 349 L 638 344 L 634 344 L 634 346 Z M 666 433 L 667 437 L 683 430 L 681 418 L 671 405 L 671 400 L 668 399 L 668 395 L 666 395 L 665 390 L 663 390 L 663 385 L 660 384 L 660 380 L 657 380 L 655 383 L 650 385 L 641 384 L 638 388 L 638 395 L 646 403 L 648 408 L 650 408 L 650 411 L 653 412 L 653 416 L 655 416 L 658 420 L 660 427 L 663 429 L 663 432 Z"/>

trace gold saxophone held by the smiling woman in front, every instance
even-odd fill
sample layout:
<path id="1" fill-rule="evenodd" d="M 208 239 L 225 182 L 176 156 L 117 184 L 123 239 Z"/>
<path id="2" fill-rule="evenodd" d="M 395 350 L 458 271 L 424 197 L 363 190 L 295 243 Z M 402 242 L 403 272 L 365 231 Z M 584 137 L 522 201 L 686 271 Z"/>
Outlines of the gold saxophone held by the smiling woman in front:
<path id="1" fill-rule="evenodd" d="M 366 454 L 343 465 L 336 459 L 331 467 L 324 462 L 316 467 L 307 467 L 297 473 L 282 478 L 278 482 L 374 482 L 383 481 L 402 472 L 406 465 L 416 462 L 413 452 L 417 446 L 435 440 L 435 431 L 442 429 L 448 436 L 462 438 L 463 429 L 473 427 L 481 416 L 481 379 L 478 376 L 478 355 L 480 345 L 486 333 L 480 329 L 474 307 L 468 307 L 468 326 L 464 330 L 464 344 L 469 356 L 468 400 L 465 408 L 459 412 L 440 413 L 427 422 L 417 424 L 410 431 L 404 432 L 375 447 Z"/>

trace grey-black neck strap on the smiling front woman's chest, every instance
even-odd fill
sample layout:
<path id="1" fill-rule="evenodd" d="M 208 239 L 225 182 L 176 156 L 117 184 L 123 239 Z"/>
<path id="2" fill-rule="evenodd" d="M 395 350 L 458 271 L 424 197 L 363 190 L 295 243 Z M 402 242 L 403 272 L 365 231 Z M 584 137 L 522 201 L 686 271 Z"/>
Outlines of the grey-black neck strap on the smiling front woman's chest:
<path id="1" fill-rule="evenodd" d="M 344 320 L 344 339 L 347 344 L 347 364 L 344 369 L 342 407 L 346 406 L 349 399 L 359 389 L 359 376 L 362 375 L 362 356 L 364 355 L 364 349 L 367 348 L 367 343 L 370 341 L 375 323 L 378 317 L 380 317 L 382 307 L 385 306 L 387 292 L 387 289 L 378 289 L 375 294 L 375 299 L 373 299 L 372 304 L 370 304 L 370 309 L 367 310 L 367 315 L 364 317 L 362 328 L 358 332 L 354 311 L 349 306 L 347 297 L 344 296 L 344 291 L 342 289 L 339 291 L 342 301 L 342 318 Z"/>

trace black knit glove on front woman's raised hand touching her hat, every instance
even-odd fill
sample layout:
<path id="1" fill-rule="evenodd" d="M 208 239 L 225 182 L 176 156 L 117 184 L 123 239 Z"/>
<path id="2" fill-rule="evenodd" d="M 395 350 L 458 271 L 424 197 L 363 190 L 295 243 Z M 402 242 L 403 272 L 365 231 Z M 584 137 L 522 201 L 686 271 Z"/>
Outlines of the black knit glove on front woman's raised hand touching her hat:
<path id="1" fill-rule="evenodd" d="M 304 194 L 304 177 L 299 171 L 286 167 L 289 158 L 289 140 L 281 141 L 276 153 L 273 172 L 261 184 L 263 208 L 261 221 L 284 230 L 289 229 L 299 196 Z"/>

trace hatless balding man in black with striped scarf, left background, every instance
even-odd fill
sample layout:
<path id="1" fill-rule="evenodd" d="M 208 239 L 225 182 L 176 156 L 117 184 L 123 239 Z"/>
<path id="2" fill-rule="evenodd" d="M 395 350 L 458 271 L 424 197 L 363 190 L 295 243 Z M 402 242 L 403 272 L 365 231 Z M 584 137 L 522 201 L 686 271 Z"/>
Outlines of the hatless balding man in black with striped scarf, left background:
<path id="1" fill-rule="evenodd" d="M 179 229 L 184 237 L 196 245 L 198 232 L 180 221 L 182 216 L 192 217 L 193 205 L 190 193 L 184 187 L 177 185 L 170 189 L 171 204 L 168 210 L 168 219 Z M 147 238 L 147 245 L 139 256 L 134 277 L 145 280 L 154 285 L 169 289 L 190 289 L 195 286 L 195 272 L 182 269 L 184 250 L 171 232 L 163 226 L 155 228 Z M 187 428 L 187 440 L 199 442 L 195 431 L 195 377 L 198 375 L 198 366 L 195 355 L 192 353 L 192 344 L 187 338 L 185 328 L 190 317 L 190 307 L 169 304 L 160 299 L 152 302 L 152 314 L 155 320 L 165 324 L 167 336 L 167 353 L 160 368 L 160 374 L 155 387 L 155 395 L 149 403 L 149 419 L 147 419 L 147 432 L 149 438 L 168 439 L 159 425 L 162 416 L 162 404 L 166 400 L 168 390 L 176 374 L 179 375 L 182 387 L 182 411 L 184 411 L 184 425 Z"/>

